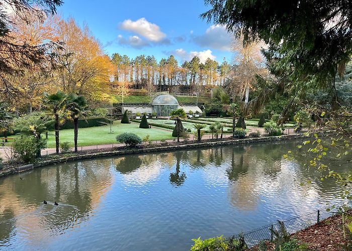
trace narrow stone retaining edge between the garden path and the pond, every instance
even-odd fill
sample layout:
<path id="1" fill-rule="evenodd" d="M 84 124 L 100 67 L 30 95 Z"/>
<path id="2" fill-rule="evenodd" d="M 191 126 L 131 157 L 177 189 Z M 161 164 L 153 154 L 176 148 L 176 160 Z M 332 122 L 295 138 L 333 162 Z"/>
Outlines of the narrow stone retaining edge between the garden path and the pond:
<path id="1" fill-rule="evenodd" d="M 318 135 L 324 136 L 322 132 L 317 133 Z M 247 138 L 247 139 L 235 139 L 235 140 L 223 140 L 217 142 L 205 142 L 205 143 L 186 143 L 183 145 L 172 145 L 172 146 L 157 146 L 153 148 L 145 148 L 145 149 L 128 149 L 128 150 L 118 150 L 118 151 L 110 151 L 110 152 L 100 152 L 100 153 L 90 153 L 83 154 L 77 156 L 70 157 L 62 157 L 60 159 L 55 160 L 47 160 L 41 161 L 39 163 L 34 163 L 33 167 L 44 167 L 47 165 L 70 162 L 70 161 L 78 161 L 78 160 L 89 160 L 95 159 L 99 157 L 111 157 L 111 156 L 124 156 L 124 155 L 132 155 L 132 154 L 145 154 L 145 153 L 156 153 L 156 152 L 166 152 L 166 151 L 178 151 L 178 150 L 186 150 L 186 149 L 195 149 L 195 148 L 211 148 L 211 147 L 221 147 L 221 146 L 230 146 L 230 145 L 241 145 L 241 144 L 252 144 L 252 143 L 261 143 L 261 142 L 279 142 L 279 141 L 289 141 L 296 139 L 304 139 L 304 138 L 313 138 L 313 133 L 309 136 L 305 136 L 304 134 L 295 134 L 295 135 L 284 135 L 284 136 L 273 136 L 273 137 L 260 137 L 260 138 Z M 8 169 L 2 173 L 0 173 L 0 177 L 7 176 L 10 174 L 17 173 L 15 168 Z"/>

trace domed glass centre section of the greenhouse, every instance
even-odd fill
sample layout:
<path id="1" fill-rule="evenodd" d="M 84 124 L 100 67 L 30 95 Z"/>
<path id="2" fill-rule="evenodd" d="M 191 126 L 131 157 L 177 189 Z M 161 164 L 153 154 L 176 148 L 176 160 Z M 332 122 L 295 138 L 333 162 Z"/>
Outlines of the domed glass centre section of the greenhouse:
<path id="1" fill-rule="evenodd" d="M 170 94 L 163 94 L 156 96 L 151 105 L 158 116 L 170 116 L 172 110 L 179 108 L 179 101 Z"/>

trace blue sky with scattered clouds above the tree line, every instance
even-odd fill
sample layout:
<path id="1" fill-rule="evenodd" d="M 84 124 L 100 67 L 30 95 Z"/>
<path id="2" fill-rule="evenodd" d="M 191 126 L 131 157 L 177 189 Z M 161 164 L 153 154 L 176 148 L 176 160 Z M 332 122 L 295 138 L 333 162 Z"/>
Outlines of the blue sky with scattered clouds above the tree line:
<path id="1" fill-rule="evenodd" d="M 197 55 L 231 61 L 231 36 L 199 15 L 207 10 L 203 0 L 64 0 L 58 13 L 86 23 L 108 55 L 173 54 L 182 64 Z"/>

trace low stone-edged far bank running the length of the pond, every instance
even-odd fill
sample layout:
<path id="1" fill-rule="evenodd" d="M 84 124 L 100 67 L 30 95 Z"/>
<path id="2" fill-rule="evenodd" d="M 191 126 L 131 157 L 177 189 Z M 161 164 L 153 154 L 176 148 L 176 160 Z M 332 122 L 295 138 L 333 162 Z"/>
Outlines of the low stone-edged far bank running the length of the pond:
<path id="1" fill-rule="evenodd" d="M 323 133 L 318 133 L 323 135 Z M 279 141 L 291 141 L 303 138 L 311 138 L 313 134 L 306 136 L 304 134 L 294 134 L 294 135 L 283 135 L 283 136 L 273 136 L 273 137 L 259 137 L 259 138 L 245 138 L 245 139 L 219 139 L 216 141 L 207 142 L 181 142 L 181 144 L 164 143 L 158 145 L 141 145 L 136 148 L 118 147 L 109 149 L 99 149 L 98 151 L 85 151 L 76 154 L 66 154 L 66 155 L 53 155 L 50 156 L 49 160 L 45 157 L 39 162 L 33 163 L 33 168 L 44 167 L 51 164 L 65 163 L 69 161 L 78 161 L 86 159 L 95 159 L 99 157 L 111 157 L 111 156 L 124 156 L 131 154 L 145 154 L 145 153 L 155 153 L 155 152 L 166 152 L 166 151 L 177 151 L 186 150 L 194 148 L 207 148 L 207 147 L 221 147 L 229 145 L 241 145 L 241 144 L 253 144 L 262 142 L 279 142 Z M 0 177 L 18 173 L 18 168 L 25 165 L 24 163 L 14 164 L 14 165 L 4 165 L 3 170 L 0 170 Z"/>

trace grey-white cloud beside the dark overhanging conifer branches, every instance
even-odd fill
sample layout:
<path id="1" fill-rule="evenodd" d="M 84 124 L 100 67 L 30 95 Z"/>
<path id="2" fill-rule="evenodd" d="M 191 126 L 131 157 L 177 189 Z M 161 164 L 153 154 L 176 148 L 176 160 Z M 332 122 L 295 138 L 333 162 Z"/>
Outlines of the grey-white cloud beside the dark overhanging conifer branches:
<path id="1" fill-rule="evenodd" d="M 215 50 L 231 51 L 233 36 L 229 34 L 225 27 L 220 25 L 210 26 L 203 35 L 195 36 L 194 42 L 202 47 L 210 47 Z"/>

